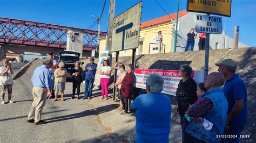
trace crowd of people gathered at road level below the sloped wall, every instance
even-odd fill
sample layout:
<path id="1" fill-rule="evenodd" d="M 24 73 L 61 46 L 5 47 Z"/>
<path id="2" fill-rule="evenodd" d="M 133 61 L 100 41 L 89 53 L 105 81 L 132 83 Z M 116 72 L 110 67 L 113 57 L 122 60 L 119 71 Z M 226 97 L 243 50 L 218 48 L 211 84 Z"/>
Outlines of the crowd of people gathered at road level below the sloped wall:
<path id="1" fill-rule="evenodd" d="M 73 90 L 72 97 L 80 95 L 80 84 L 85 77 L 84 97 L 92 98 L 92 85 L 95 80 L 97 64 L 90 58 L 90 63 L 84 67 L 83 74 L 80 62 L 76 61 L 71 70 Z M 0 67 L 0 85 L 2 104 L 5 104 L 4 95 L 8 89 L 8 102 L 11 100 L 13 70 L 7 59 L 4 59 Z M 111 67 L 109 61 L 104 60 L 99 70 L 102 92 L 100 99 L 107 100 L 111 79 Z M 239 142 L 242 128 L 247 123 L 247 93 L 244 81 L 235 74 L 236 63 L 232 59 L 225 59 L 215 63 L 219 72 L 210 73 L 204 83 L 197 83 L 191 77 L 193 69 L 189 65 L 181 65 L 179 76 L 181 80 L 176 91 L 177 109 L 180 116 L 182 142 Z M 47 98 L 57 101 L 60 91 L 61 100 L 64 102 L 64 90 L 68 71 L 63 62 L 57 62 L 52 58 L 45 59 L 42 66 L 33 71 L 31 78 L 33 88 L 33 103 L 29 111 L 27 121 L 36 125 L 45 124 L 42 120 L 42 109 Z M 136 142 L 169 142 L 171 130 L 171 99 L 161 94 L 164 79 L 157 74 L 150 74 L 147 78 L 146 93 L 138 94 L 133 88 L 133 65 L 124 64 L 119 60 L 114 66 L 117 69 L 116 82 L 119 97 L 119 107 L 123 110 L 121 115 L 129 112 L 136 113 Z M 138 63 L 136 63 L 138 68 Z M 132 103 L 131 103 L 132 101 Z M 117 101 L 118 102 L 118 101 Z M 206 130 L 205 120 L 212 123 L 212 128 Z M 218 136 L 219 135 L 219 136 Z M 224 136 L 223 136 L 224 135 Z M 227 136 L 225 136 L 227 135 Z M 232 137 L 231 137 L 232 135 Z"/>

